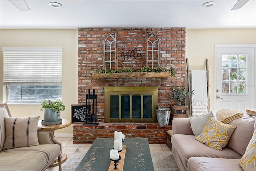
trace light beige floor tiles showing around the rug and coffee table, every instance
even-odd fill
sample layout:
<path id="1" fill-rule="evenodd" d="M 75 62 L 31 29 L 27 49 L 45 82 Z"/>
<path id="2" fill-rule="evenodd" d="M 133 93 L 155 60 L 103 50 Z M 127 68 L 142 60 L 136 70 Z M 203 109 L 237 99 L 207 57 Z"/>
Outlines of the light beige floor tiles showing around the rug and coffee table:
<path id="1" fill-rule="evenodd" d="M 73 138 L 62 138 L 62 137 L 55 137 L 57 141 L 62 144 L 62 153 L 66 153 L 68 157 L 71 157 L 73 153 L 76 151 L 77 148 L 83 151 L 88 151 L 92 144 L 73 144 Z M 166 144 L 150 144 L 149 145 L 150 151 L 171 151 L 170 148 Z M 63 163 L 62 165 L 64 165 Z M 49 167 L 46 171 L 57 171 L 58 166 L 56 167 Z"/>

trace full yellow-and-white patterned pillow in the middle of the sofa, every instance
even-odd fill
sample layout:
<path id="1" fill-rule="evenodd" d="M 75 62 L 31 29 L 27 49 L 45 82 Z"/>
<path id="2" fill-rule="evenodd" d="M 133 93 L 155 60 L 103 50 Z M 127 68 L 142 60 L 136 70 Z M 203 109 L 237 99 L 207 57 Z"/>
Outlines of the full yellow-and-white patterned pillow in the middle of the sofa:
<path id="1" fill-rule="evenodd" d="M 213 149 L 222 150 L 228 144 L 235 129 L 236 126 L 222 123 L 214 117 L 210 117 L 202 133 L 195 139 Z"/>

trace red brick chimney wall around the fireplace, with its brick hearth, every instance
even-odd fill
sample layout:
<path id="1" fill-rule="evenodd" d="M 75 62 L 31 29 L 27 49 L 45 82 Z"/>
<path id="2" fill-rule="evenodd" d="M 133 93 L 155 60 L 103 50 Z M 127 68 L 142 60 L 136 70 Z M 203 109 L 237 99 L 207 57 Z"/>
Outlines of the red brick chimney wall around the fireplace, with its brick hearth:
<path id="1" fill-rule="evenodd" d="M 146 31 L 153 33 L 159 38 L 160 66 L 166 69 L 173 67 L 177 71 L 175 77 L 92 79 L 94 70 L 104 68 L 103 42 L 106 36 L 110 33 L 117 32 L 118 61 L 121 61 L 121 53 L 129 52 L 134 48 L 140 50 L 142 56 L 145 56 Z M 158 106 L 170 107 L 175 101 L 168 93 L 172 92 L 172 88 L 185 87 L 185 44 L 185 28 L 78 28 L 78 103 L 85 103 L 88 89 L 95 89 L 98 105 L 97 121 L 103 124 L 102 126 L 105 131 L 107 124 L 104 123 L 105 86 L 158 86 Z M 118 64 L 119 69 L 125 67 L 139 70 L 143 66 L 145 66 L 145 63 L 143 63 L 142 60 L 132 58 L 128 58 L 125 62 L 119 62 Z M 91 134 L 92 132 L 100 133 L 99 127 L 94 126 L 88 128 L 81 124 L 75 124 L 73 128 L 74 143 L 86 143 L 89 139 L 99 137 Z M 112 128 L 113 133 L 115 130 L 118 130 L 116 126 L 113 127 L 112 125 Z M 154 130 L 150 129 L 150 131 L 154 133 L 158 129 L 162 130 L 161 127 L 158 128 L 158 126 L 156 126 Z M 124 130 L 125 129 L 123 129 L 123 131 Z M 131 133 L 136 133 L 134 130 L 130 131 Z M 144 131 L 146 131 L 146 129 Z M 142 134 L 141 130 L 137 132 Z M 163 131 L 163 134 L 165 134 L 165 131 Z M 145 137 L 147 136 L 148 134 L 145 134 Z M 162 136 L 162 139 L 152 141 L 151 143 L 161 143 L 164 141 L 166 141 L 166 139 Z"/>

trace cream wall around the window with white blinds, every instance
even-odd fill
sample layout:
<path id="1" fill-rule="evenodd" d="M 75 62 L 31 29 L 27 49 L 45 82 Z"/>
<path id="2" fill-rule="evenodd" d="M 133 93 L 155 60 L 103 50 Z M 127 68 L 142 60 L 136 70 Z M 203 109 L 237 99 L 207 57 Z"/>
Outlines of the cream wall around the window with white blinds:
<path id="1" fill-rule="evenodd" d="M 71 104 L 77 104 L 77 29 L 2 29 L 0 47 L 43 47 L 63 48 L 62 52 L 62 101 L 66 110 L 60 118 L 70 119 Z M 0 103 L 6 102 L 3 87 L 3 52 L 0 52 Z M 40 115 L 44 118 L 41 105 L 8 105 L 13 117 Z M 58 129 L 55 133 L 72 133 L 72 125 Z"/>

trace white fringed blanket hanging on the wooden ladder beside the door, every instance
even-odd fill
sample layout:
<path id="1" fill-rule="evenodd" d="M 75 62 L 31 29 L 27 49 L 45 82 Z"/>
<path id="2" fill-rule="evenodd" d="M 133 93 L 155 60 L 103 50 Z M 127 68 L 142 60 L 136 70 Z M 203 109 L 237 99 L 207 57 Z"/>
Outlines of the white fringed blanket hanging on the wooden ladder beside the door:
<path id="1" fill-rule="evenodd" d="M 192 112 L 191 115 L 202 115 L 208 112 L 208 94 L 206 71 L 191 70 Z"/>

